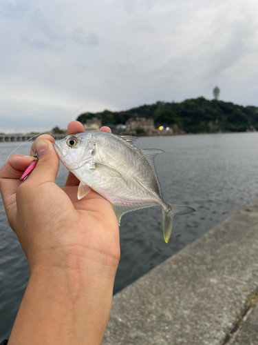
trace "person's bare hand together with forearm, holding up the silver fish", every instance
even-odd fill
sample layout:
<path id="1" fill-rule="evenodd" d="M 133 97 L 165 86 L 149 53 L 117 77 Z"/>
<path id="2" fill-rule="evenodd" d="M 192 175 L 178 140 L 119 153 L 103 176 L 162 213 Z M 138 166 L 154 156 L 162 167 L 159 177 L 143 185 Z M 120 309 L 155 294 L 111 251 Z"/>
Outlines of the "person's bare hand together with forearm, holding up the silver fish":
<path id="1" fill-rule="evenodd" d="M 67 130 L 84 128 L 73 121 Z M 8 344 L 101 344 L 120 258 L 118 222 L 97 193 L 77 199 L 79 181 L 70 172 L 65 187 L 56 186 L 53 141 L 34 141 L 39 161 L 25 181 L 19 178 L 32 157 L 14 155 L 0 170 L 8 221 L 31 273 Z"/>

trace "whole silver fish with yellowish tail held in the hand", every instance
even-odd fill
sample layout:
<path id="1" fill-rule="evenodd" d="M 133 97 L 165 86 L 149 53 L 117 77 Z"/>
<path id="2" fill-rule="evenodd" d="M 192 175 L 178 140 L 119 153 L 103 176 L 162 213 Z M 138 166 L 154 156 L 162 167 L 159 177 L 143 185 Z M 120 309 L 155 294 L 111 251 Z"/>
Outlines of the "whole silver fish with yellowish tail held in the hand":
<path id="1" fill-rule="evenodd" d="M 54 149 L 65 167 L 80 180 L 78 199 L 92 188 L 111 202 L 118 224 L 122 215 L 129 211 L 161 206 L 167 243 L 173 216 L 187 215 L 195 210 L 164 202 L 154 165 L 155 156 L 164 151 L 139 150 L 133 146 L 136 139 L 131 135 L 83 132 L 56 141 Z"/>

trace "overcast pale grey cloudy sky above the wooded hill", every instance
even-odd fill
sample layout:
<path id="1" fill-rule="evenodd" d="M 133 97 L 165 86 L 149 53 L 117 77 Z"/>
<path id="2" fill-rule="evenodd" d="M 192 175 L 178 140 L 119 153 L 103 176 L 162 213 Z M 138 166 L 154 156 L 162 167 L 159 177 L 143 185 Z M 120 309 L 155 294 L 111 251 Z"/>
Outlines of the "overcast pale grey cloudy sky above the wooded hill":
<path id="1" fill-rule="evenodd" d="M 258 106 L 257 0 L 0 0 L 0 47 L 0 132 L 216 85 Z"/>

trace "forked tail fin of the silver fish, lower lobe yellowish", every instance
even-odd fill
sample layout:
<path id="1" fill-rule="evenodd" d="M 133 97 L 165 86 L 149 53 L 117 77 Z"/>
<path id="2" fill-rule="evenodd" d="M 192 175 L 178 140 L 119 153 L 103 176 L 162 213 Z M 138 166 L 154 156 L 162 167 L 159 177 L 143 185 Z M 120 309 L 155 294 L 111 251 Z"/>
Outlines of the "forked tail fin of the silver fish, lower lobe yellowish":
<path id="1" fill-rule="evenodd" d="M 168 243 L 171 236 L 172 227 L 173 227 L 174 215 L 188 215 L 189 213 L 195 212 L 195 209 L 189 206 L 178 206 L 178 205 L 171 205 L 171 204 L 166 204 L 166 205 L 168 206 L 168 209 L 164 210 L 162 208 L 163 235 L 164 235 L 165 242 Z"/>

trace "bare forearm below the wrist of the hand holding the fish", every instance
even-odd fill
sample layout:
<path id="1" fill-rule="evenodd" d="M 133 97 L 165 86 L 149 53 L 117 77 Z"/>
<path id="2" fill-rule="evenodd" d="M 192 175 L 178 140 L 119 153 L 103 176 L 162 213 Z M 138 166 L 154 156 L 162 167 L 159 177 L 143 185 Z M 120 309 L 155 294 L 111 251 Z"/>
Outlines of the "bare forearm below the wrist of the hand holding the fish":
<path id="1" fill-rule="evenodd" d="M 103 276 L 88 279 L 87 268 L 33 270 L 8 345 L 101 344 L 114 286 L 114 277 Z"/>

